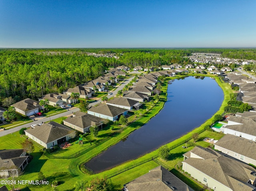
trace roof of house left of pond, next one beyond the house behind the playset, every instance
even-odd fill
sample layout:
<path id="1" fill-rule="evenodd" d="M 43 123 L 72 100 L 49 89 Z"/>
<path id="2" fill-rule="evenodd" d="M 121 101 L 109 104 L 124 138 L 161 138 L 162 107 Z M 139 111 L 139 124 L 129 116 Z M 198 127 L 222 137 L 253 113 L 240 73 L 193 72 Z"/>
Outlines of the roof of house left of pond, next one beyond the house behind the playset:
<path id="1" fill-rule="evenodd" d="M 115 106 L 108 105 L 108 104 L 99 104 L 98 106 L 91 107 L 89 109 L 89 111 L 103 114 L 106 116 L 114 117 L 114 116 L 118 116 L 118 115 L 122 114 L 123 112 L 127 111 L 127 109 L 115 107 Z"/>

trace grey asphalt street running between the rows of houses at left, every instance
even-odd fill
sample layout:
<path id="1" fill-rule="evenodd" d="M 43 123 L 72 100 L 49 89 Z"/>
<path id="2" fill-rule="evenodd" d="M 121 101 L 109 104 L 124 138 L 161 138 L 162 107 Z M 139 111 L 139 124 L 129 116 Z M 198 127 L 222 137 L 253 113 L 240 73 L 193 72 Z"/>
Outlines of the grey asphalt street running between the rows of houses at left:
<path id="1" fill-rule="evenodd" d="M 117 92 L 119 90 L 122 90 L 124 88 L 124 86 L 127 85 L 133 78 L 134 77 L 131 77 L 128 80 L 123 81 L 122 84 L 120 84 L 115 91 L 112 91 L 112 95 L 107 95 L 107 97 L 111 98 L 111 97 L 115 96 L 117 94 Z M 101 98 L 96 100 L 96 101 L 94 101 L 94 102 L 92 102 L 92 103 L 90 103 L 89 107 L 90 106 L 94 106 L 94 105 L 96 105 L 96 104 L 98 104 L 100 102 L 102 102 Z M 50 120 L 53 120 L 53 119 L 56 119 L 56 118 L 60 118 L 60 117 L 63 117 L 63 116 L 71 116 L 72 112 L 75 113 L 75 112 L 77 112 L 79 110 L 80 110 L 79 108 L 74 107 L 74 108 L 68 108 L 68 111 L 66 111 L 66 112 L 63 112 L 63 113 L 60 113 L 60 114 L 56 114 L 56 115 L 53 115 L 53 116 L 50 116 L 50 117 L 44 117 L 44 116 L 32 117 L 31 119 L 35 119 L 35 120 L 33 122 L 31 122 L 31 123 L 27 123 L 27 124 L 20 125 L 20 126 L 14 127 L 14 128 L 10 128 L 10 129 L 4 130 L 4 131 L 0 131 L 0 137 L 1 136 L 5 136 L 5 135 L 10 134 L 10 133 L 14 133 L 16 131 L 19 131 L 21 128 L 24 128 L 24 127 L 28 128 L 28 127 L 30 127 L 33 124 L 38 125 L 38 124 L 40 124 L 42 122 L 45 123 L 47 121 L 50 121 Z"/>

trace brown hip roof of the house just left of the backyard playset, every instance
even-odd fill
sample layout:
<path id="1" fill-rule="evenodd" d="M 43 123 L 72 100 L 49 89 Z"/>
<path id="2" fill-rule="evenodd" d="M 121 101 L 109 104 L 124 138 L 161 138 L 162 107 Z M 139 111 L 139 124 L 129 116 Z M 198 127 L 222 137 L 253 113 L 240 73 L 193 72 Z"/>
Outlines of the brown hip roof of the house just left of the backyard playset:
<path id="1" fill-rule="evenodd" d="M 49 123 L 44 123 L 41 126 L 27 129 L 25 130 L 25 132 L 28 132 L 35 138 L 47 144 L 64 136 L 67 136 L 72 132 L 72 130 L 64 125 L 51 121 Z"/>

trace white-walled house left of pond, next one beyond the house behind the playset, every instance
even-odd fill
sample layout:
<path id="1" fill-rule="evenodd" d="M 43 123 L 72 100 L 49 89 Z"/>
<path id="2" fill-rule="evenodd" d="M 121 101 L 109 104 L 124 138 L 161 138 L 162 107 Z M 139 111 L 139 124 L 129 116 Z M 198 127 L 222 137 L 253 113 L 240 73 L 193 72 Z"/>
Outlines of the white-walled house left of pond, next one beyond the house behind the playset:
<path id="1" fill-rule="evenodd" d="M 99 104 L 98 106 L 93 106 L 88 110 L 88 114 L 97 116 L 104 119 L 109 119 L 111 121 L 116 121 L 121 115 L 127 115 L 128 109 L 115 107 L 108 104 Z"/>

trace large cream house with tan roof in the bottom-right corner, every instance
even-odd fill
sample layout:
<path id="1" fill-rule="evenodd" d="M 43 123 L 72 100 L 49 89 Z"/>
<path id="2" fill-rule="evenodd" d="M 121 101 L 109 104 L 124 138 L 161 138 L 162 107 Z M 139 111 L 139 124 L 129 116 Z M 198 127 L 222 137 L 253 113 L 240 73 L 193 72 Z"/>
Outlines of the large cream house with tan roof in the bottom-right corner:
<path id="1" fill-rule="evenodd" d="M 186 152 L 182 170 L 214 191 L 255 191 L 255 169 L 210 148 Z"/>

